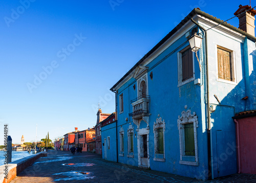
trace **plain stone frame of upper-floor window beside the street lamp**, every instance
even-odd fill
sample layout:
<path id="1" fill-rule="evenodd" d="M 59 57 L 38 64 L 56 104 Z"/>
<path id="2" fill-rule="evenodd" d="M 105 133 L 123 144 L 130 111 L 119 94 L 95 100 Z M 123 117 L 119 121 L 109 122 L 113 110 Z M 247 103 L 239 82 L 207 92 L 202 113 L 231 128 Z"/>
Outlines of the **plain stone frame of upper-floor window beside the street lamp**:
<path id="1" fill-rule="evenodd" d="M 190 48 L 190 45 L 188 45 L 186 48 L 178 52 L 178 56 L 177 56 L 178 57 L 178 86 L 177 87 L 180 87 L 196 79 L 195 78 L 195 58 L 194 58 L 195 53 L 193 52 L 193 77 L 185 81 L 182 81 L 182 53 L 188 50 L 189 48 Z"/>

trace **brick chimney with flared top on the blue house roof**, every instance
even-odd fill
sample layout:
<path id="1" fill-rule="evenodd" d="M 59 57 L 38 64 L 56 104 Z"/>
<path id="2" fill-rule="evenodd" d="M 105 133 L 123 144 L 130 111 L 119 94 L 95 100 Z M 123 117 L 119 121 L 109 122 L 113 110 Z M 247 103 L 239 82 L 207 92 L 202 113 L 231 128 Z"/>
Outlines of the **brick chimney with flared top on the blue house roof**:
<path id="1" fill-rule="evenodd" d="M 234 15 L 236 15 L 239 18 L 239 29 L 242 29 L 248 34 L 255 36 L 254 16 L 256 14 L 256 10 L 254 9 L 249 10 L 249 9 L 251 9 L 251 6 L 249 5 L 245 5 L 245 6 L 239 5 L 239 9 L 236 12 L 234 12 Z M 247 12 L 243 13 L 245 11 Z"/>

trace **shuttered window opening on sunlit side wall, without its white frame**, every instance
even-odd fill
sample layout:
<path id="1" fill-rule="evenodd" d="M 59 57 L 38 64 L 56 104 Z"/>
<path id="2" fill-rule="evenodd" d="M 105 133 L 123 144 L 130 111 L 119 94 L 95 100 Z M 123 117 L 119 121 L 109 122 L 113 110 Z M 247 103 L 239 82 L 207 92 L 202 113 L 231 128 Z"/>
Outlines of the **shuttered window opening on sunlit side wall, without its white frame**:
<path id="1" fill-rule="evenodd" d="M 217 46 L 218 79 L 234 81 L 233 52 Z"/>

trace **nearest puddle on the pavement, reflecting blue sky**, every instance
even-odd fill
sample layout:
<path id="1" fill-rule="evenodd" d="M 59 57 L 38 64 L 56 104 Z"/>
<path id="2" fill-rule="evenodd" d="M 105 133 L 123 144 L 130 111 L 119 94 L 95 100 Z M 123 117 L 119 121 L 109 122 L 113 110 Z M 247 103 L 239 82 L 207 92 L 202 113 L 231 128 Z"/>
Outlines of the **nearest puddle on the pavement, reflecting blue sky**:
<path id="1" fill-rule="evenodd" d="M 57 178 L 54 181 L 60 181 L 60 180 L 83 180 L 83 179 L 92 179 L 92 178 L 95 177 L 95 176 L 93 176 L 93 173 L 91 173 L 91 172 L 81 172 L 81 171 L 61 172 L 61 173 L 55 173 L 53 175 L 67 176 L 65 178 Z"/>

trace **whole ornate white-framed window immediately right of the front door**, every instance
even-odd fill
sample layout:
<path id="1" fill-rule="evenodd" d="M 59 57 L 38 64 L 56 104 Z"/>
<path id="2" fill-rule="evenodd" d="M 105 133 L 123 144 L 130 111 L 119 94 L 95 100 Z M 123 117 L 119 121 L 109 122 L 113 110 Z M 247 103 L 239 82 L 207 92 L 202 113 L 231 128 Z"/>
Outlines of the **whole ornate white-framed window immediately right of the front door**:
<path id="1" fill-rule="evenodd" d="M 158 115 L 159 117 L 160 115 Z M 153 125 L 154 132 L 154 145 L 155 145 L 155 157 L 154 161 L 165 162 L 165 153 L 164 153 L 164 131 L 165 131 L 165 122 L 162 121 L 162 118 L 157 118 L 156 122 Z"/>

